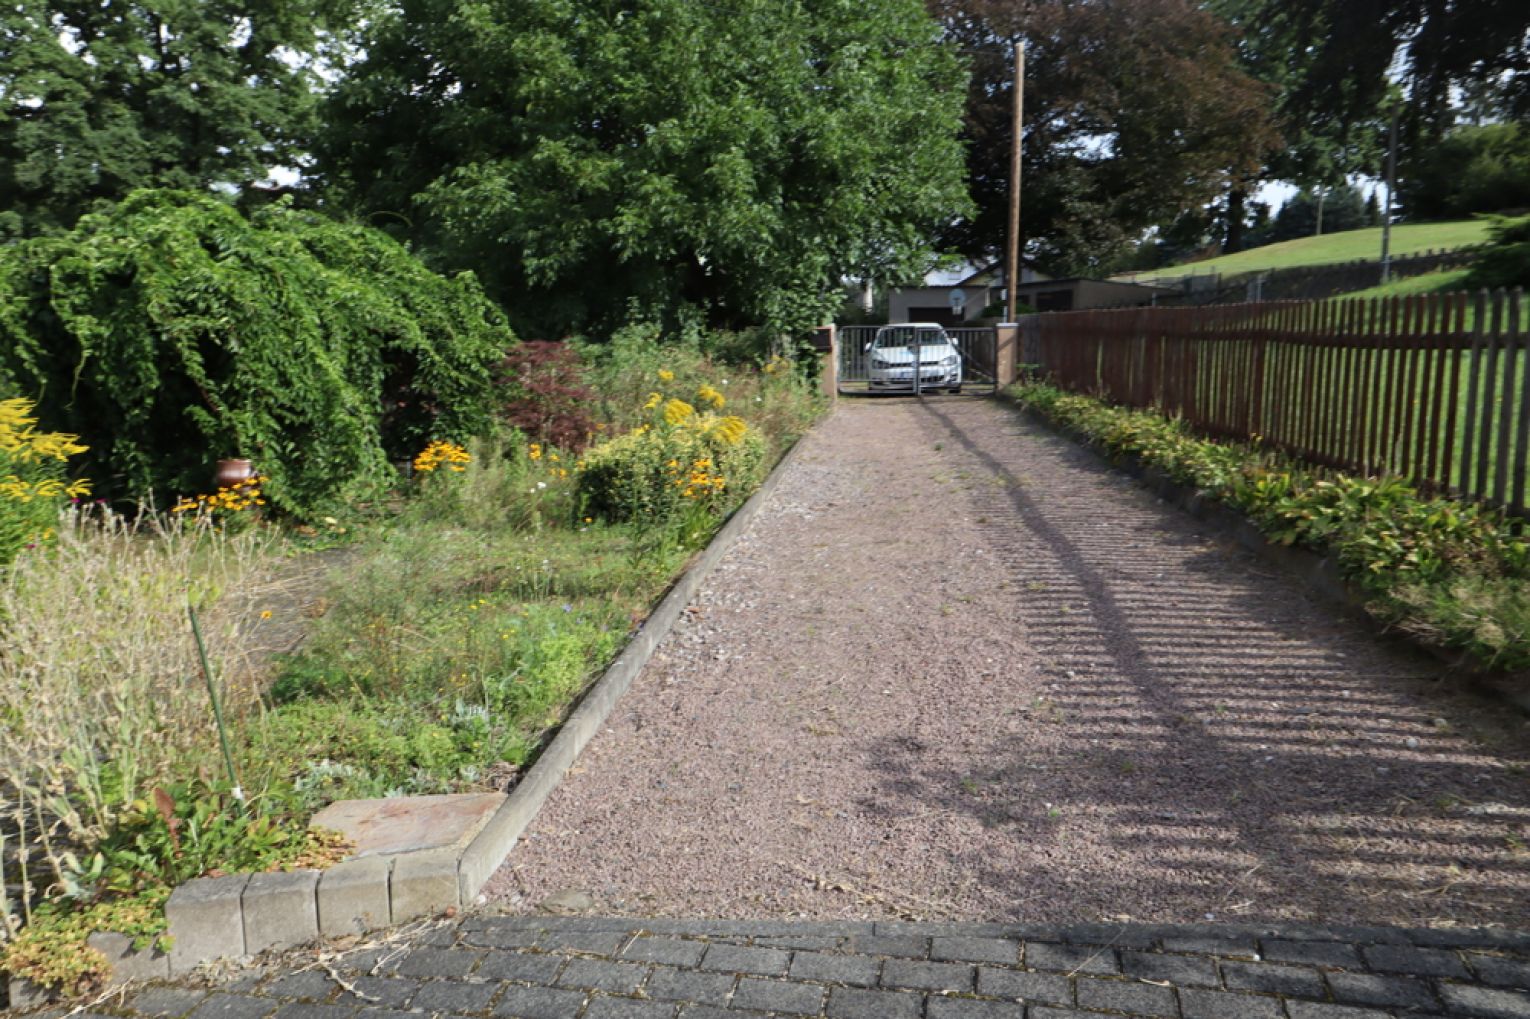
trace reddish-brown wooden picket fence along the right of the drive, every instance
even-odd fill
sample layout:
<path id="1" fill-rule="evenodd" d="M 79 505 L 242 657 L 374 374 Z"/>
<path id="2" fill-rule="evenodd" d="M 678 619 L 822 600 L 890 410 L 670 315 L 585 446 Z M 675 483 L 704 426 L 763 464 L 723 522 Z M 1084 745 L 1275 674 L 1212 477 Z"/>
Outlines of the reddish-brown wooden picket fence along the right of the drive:
<path id="1" fill-rule="evenodd" d="M 1530 465 L 1524 294 L 1132 308 L 1037 317 L 1060 386 L 1516 513 Z"/>

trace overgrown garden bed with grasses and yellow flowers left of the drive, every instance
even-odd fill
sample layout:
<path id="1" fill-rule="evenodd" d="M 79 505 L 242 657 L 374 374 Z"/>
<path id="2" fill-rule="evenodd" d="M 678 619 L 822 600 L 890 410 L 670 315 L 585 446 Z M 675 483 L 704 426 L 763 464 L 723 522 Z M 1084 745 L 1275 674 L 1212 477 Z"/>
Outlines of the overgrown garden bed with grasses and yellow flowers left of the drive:
<path id="1" fill-rule="evenodd" d="M 115 615 L 80 606 L 78 632 L 37 632 L 20 646 L 113 633 L 168 664 L 150 675 L 121 663 L 129 676 L 147 676 L 118 719 L 127 745 L 113 747 L 113 734 L 99 730 L 49 762 L 58 776 L 76 760 L 95 768 L 83 793 L 66 779 L 64 799 L 32 797 L 31 812 L 24 793 L 12 799 L 17 817 L 75 808 L 81 822 L 57 845 L 14 829 L 6 878 L 23 897 L 6 912 L 29 923 L 12 921 L 20 927 L 12 975 L 86 991 L 101 979 L 103 959 L 84 936 L 110 927 L 151 946 L 171 886 L 338 860 L 341 842 L 306 832 L 308 817 L 330 802 L 513 786 L 695 549 L 817 413 L 789 366 L 767 369 L 627 344 L 588 372 L 601 398 L 594 405 L 609 401 L 594 422 L 597 438 L 610 441 L 583 454 L 514 431 L 467 448 L 433 447 L 396 499 L 301 526 L 225 514 L 148 517 L 127 528 L 96 513 L 67 516 L 52 548 L 24 555 L 8 575 L 20 598 L 8 610 L 41 624 L 43 606 L 78 597 L 61 578 L 89 568 L 87 591 L 122 592 L 112 598 Z M 636 401 L 624 389 L 633 381 L 647 390 Z M 739 413 L 724 415 L 725 404 Z M 652 511 L 633 513 L 629 497 L 644 487 Z M 283 588 L 283 578 L 312 572 L 301 566 L 308 555 L 337 546 L 344 551 L 323 583 L 309 575 L 303 592 Z M 177 555 L 167 560 L 171 549 Z M 188 583 L 222 727 L 197 676 Z M 300 646 L 272 656 L 274 644 L 292 646 L 294 617 L 301 617 Z M 99 629 L 81 629 L 81 620 Z M 278 629 L 282 640 L 272 640 Z M 28 667 L 63 676 L 57 661 Z M 78 708 L 112 684 L 87 670 L 58 685 Z M 171 724 L 159 730 L 156 715 Z M 58 731 L 67 730 L 61 719 Z M 118 774 L 112 762 L 145 739 L 139 763 Z M 35 777 L 35 788 L 47 788 L 47 776 Z M 98 799 L 76 806 L 92 791 Z M 124 901 L 141 904 L 132 923 L 96 912 Z"/>

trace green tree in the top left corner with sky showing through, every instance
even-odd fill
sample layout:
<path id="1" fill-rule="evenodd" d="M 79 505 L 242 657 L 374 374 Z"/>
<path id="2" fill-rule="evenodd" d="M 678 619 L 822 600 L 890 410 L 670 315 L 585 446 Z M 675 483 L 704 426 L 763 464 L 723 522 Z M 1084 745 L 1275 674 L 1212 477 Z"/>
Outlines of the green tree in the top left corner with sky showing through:
<path id="1" fill-rule="evenodd" d="M 338 0 L 20 0 L 0 8 L 0 237 L 139 187 L 243 185 L 312 129 Z"/>

